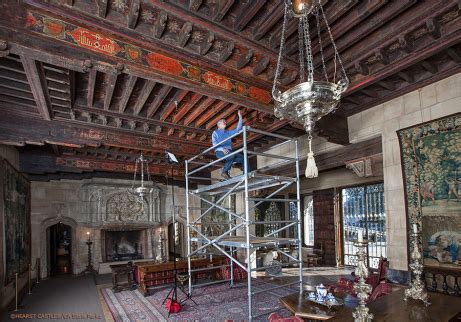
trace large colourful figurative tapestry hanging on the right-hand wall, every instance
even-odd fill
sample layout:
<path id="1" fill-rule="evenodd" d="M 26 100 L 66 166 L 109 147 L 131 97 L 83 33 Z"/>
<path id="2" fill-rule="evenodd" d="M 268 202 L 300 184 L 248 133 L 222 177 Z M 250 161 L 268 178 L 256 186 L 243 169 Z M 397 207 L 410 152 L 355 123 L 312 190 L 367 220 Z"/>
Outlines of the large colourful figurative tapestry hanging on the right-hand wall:
<path id="1" fill-rule="evenodd" d="M 461 269 L 461 114 L 398 131 L 408 228 L 425 265 Z"/>

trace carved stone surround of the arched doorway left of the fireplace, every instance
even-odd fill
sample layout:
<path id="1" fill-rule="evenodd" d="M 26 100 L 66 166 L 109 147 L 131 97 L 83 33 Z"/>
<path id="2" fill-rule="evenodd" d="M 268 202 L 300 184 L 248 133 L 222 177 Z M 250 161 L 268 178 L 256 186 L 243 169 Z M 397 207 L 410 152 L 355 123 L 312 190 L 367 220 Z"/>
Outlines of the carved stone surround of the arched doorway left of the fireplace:
<path id="1" fill-rule="evenodd" d="M 71 272 L 72 274 L 78 274 L 76 271 L 77 268 L 77 222 L 69 217 L 49 217 L 45 220 L 42 221 L 40 224 L 40 276 L 42 278 L 48 277 L 48 256 L 47 256 L 47 234 L 46 230 L 53 226 L 56 225 L 57 223 L 63 223 L 65 225 L 68 225 L 72 228 L 72 251 L 71 251 Z"/>

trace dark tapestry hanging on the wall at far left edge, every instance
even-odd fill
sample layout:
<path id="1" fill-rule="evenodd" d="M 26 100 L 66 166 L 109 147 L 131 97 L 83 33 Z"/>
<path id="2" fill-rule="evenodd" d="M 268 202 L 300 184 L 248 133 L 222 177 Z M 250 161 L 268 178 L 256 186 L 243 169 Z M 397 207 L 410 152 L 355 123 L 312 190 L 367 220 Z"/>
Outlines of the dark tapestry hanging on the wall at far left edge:
<path id="1" fill-rule="evenodd" d="M 3 190 L 3 267 L 5 284 L 30 262 L 30 183 L 6 160 L 0 163 Z"/>

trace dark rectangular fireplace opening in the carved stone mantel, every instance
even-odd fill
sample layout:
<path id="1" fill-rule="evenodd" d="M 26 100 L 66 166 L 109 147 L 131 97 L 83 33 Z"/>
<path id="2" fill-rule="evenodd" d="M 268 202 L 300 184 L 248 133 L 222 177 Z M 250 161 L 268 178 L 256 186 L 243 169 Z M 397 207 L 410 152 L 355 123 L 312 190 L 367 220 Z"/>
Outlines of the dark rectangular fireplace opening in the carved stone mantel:
<path id="1" fill-rule="evenodd" d="M 106 230 L 104 238 L 106 261 L 114 262 L 144 258 L 144 230 Z"/>

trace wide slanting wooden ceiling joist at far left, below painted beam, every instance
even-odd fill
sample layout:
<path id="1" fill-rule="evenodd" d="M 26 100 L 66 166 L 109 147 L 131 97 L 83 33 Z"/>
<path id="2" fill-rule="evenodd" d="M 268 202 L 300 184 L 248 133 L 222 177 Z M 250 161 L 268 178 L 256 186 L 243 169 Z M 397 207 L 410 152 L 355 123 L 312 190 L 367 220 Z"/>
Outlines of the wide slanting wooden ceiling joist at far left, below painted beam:
<path id="1" fill-rule="evenodd" d="M 51 120 L 51 100 L 48 93 L 43 64 L 24 55 L 21 56 L 21 62 L 40 115 L 45 120 Z"/>

